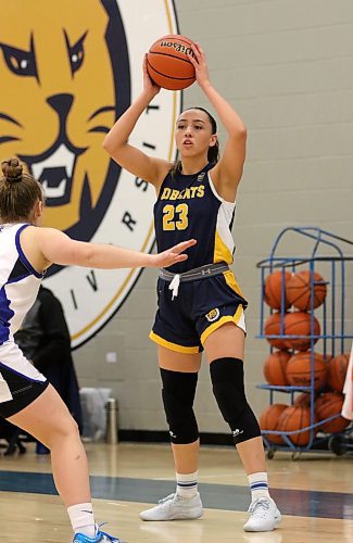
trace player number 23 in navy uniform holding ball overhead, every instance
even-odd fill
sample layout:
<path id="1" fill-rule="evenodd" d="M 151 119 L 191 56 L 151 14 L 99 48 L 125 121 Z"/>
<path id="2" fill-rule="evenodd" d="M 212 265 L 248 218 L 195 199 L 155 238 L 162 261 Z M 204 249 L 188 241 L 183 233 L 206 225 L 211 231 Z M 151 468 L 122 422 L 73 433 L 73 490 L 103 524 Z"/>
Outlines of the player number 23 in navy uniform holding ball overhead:
<path id="1" fill-rule="evenodd" d="M 192 46 L 199 86 L 216 110 L 227 134 L 218 160 L 215 119 L 202 108 L 191 108 L 176 124 L 180 160 L 171 164 L 146 155 L 128 143 L 134 127 L 160 88 L 143 64 L 143 91 L 106 135 L 104 148 L 134 176 L 151 182 L 157 194 L 154 224 L 157 247 L 192 236 L 187 263 L 161 269 L 159 310 L 151 339 L 159 345 L 163 403 L 174 453 L 176 492 L 140 514 L 143 520 L 191 519 L 202 515 L 198 493 L 199 433 L 193 399 L 204 350 L 213 392 L 229 424 L 248 473 L 252 502 L 245 531 L 270 531 L 280 513 L 268 493 L 261 430 L 244 392 L 244 308 L 229 264 L 232 263 L 231 226 L 237 188 L 245 159 L 245 127 L 237 112 L 210 81 L 199 45 Z M 157 129 L 157 128 L 156 128 Z"/>

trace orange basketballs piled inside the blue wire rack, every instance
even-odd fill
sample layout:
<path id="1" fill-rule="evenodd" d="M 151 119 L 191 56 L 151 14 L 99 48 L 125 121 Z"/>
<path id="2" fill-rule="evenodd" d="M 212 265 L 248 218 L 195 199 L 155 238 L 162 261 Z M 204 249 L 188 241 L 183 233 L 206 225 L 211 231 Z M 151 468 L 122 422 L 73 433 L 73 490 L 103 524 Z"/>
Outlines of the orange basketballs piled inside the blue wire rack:
<path id="1" fill-rule="evenodd" d="M 313 277 L 312 277 L 313 274 Z M 313 279 L 313 280 L 312 280 Z M 282 281 L 285 280 L 285 286 Z M 337 356 L 311 352 L 312 337 L 316 343 L 320 336 L 320 325 L 314 316 L 326 298 L 327 286 L 316 272 L 303 270 L 290 274 L 279 270 L 269 274 L 264 283 L 264 300 L 275 310 L 265 320 L 265 336 L 269 344 L 277 349 L 264 363 L 264 375 L 269 384 L 277 387 L 311 387 L 312 357 L 314 369 L 314 394 L 303 392 L 293 405 L 273 404 L 260 417 L 262 430 L 281 432 L 297 431 L 311 426 L 311 402 L 315 397 L 315 422 L 336 416 L 314 429 L 325 433 L 340 432 L 350 424 L 338 416 L 343 405 L 343 384 L 349 364 L 348 354 Z M 293 311 L 288 310 L 292 307 Z M 312 320 L 313 319 L 313 320 Z M 313 321 L 313 333 L 312 333 Z M 286 444 L 279 434 L 266 434 L 275 444 Z M 310 430 L 289 435 L 297 446 L 310 442 Z"/>

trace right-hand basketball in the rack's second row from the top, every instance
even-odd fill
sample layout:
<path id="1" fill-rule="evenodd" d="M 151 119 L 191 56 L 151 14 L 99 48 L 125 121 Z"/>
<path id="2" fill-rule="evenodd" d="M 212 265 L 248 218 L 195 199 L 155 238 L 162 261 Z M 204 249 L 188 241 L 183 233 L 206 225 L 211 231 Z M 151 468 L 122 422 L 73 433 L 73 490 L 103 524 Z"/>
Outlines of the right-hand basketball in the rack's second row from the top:
<path id="1" fill-rule="evenodd" d="M 311 348 L 311 315 L 302 311 L 288 313 L 285 316 L 285 334 L 286 336 L 307 336 L 307 338 L 289 338 L 285 340 L 285 344 L 294 351 L 306 351 Z M 313 336 L 319 336 L 320 325 L 316 317 L 314 317 L 314 331 Z M 316 343 L 318 338 L 314 339 Z"/>

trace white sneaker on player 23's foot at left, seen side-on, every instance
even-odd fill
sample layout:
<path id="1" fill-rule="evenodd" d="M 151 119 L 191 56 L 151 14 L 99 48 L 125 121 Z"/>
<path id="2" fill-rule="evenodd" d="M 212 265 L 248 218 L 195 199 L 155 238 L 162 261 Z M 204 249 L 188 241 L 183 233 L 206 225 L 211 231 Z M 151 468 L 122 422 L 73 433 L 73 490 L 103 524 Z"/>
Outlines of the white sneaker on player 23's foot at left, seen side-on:
<path id="1" fill-rule="evenodd" d="M 199 492 L 192 497 L 169 494 L 160 500 L 151 509 L 140 513 L 142 520 L 188 520 L 200 518 L 203 514 Z"/>

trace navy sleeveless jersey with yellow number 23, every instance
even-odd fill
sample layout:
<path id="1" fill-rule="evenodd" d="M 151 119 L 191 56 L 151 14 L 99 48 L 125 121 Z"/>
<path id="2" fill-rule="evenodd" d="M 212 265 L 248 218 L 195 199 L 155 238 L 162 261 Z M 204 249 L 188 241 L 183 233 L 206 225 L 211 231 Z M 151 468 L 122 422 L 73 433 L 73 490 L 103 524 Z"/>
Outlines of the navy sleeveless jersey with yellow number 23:
<path id="1" fill-rule="evenodd" d="M 180 274 L 204 264 L 232 263 L 235 243 L 231 225 L 236 204 L 220 198 L 210 178 L 207 164 L 201 172 L 184 175 L 168 173 L 154 204 L 154 227 L 159 252 L 197 239 L 188 249 L 189 258 L 168 268 Z"/>

